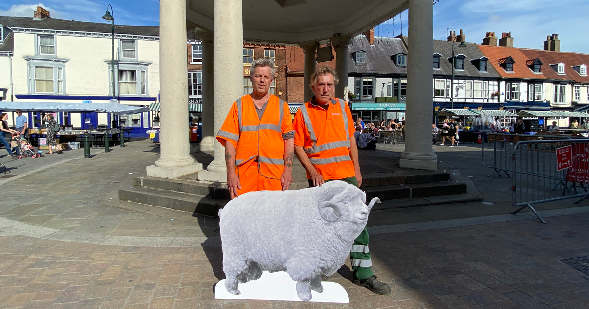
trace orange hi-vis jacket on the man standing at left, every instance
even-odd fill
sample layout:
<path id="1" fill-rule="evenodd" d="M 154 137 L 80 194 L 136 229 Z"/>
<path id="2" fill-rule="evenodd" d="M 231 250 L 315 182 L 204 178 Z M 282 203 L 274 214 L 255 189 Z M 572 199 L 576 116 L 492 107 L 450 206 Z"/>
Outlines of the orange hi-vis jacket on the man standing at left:
<path id="1" fill-rule="evenodd" d="M 282 134 L 292 132 L 289 106 L 270 95 L 262 119 L 258 118 L 254 101 L 244 95 L 233 102 L 217 140 L 225 146 L 229 141 L 236 148 L 235 166 L 238 177 L 249 164 L 257 161 L 260 175 L 280 179 L 284 170 L 284 140 Z"/>

